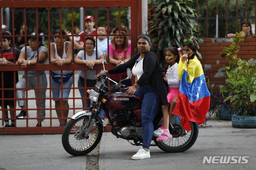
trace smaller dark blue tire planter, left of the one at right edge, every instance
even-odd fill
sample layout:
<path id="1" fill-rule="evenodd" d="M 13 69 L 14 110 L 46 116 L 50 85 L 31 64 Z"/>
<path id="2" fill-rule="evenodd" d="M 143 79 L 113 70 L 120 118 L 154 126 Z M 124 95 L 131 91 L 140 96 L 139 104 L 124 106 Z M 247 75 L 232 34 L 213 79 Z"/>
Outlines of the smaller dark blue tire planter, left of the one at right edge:
<path id="1" fill-rule="evenodd" d="M 231 120 L 233 110 L 230 104 L 220 104 L 217 109 L 217 118 L 220 120 Z"/>

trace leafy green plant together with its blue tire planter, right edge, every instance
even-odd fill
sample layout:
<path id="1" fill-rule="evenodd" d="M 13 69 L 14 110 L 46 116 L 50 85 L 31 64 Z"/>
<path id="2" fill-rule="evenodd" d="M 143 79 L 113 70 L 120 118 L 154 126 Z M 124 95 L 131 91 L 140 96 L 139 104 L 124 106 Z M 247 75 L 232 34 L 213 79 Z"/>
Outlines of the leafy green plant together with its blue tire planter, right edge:
<path id="1" fill-rule="evenodd" d="M 231 118 L 233 127 L 256 128 L 256 67 L 252 63 L 237 58 L 240 49 L 239 42 L 243 35 L 236 33 L 232 44 L 226 47 L 220 56 L 229 60 L 226 69 L 226 86 L 220 91 L 228 94 L 224 102 L 230 102 L 234 111 Z"/>

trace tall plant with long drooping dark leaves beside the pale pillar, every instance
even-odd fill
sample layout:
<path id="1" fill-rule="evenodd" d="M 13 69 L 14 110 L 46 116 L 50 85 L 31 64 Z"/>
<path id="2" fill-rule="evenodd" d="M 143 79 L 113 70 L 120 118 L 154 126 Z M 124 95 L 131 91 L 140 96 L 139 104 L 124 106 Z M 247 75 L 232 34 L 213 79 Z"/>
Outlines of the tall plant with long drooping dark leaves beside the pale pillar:
<path id="1" fill-rule="evenodd" d="M 196 10 L 192 0 L 152 0 L 150 5 L 149 34 L 158 42 L 156 52 L 168 46 L 182 46 L 184 37 L 195 37 Z M 198 46 L 197 42 L 195 42 Z M 197 56 L 201 58 L 201 54 Z"/>

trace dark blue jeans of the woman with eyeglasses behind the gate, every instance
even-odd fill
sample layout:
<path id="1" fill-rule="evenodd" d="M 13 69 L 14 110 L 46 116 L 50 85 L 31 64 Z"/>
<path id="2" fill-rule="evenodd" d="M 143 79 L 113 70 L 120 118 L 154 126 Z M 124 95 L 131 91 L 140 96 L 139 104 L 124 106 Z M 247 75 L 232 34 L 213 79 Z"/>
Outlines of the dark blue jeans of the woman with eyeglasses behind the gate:
<path id="1" fill-rule="evenodd" d="M 78 79 L 78 87 L 84 87 L 83 86 L 84 82 L 82 83 L 80 79 Z M 96 84 L 96 80 L 87 80 L 86 79 L 86 87 L 95 87 L 95 84 Z M 80 92 L 80 95 L 82 98 L 85 97 L 85 88 L 82 88 L 82 89 L 79 89 L 79 92 Z M 86 93 L 86 97 L 89 97 L 89 94 Z M 86 100 L 86 107 L 90 107 L 91 105 L 91 101 L 90 99 L 87 99 Z M 83 109 L 85 108 L 85 100 L 82 99 L 82 107 Z"/>

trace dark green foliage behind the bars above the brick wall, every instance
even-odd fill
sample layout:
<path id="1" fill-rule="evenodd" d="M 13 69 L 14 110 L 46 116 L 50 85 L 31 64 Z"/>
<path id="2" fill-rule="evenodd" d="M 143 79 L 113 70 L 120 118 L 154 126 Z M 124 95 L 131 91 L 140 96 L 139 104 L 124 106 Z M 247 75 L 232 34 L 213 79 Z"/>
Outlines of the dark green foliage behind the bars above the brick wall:
<path id="1" fill-rule="evenodd" d="M 226 35 L 226 0 L 218 0 L 218 17 L 219 17 L 219 37 Z M 254 24 L 255 17 L 255 0 L 247 0 L 248 21 Z M 193 0 L 192 8 L 196 9 L 196 0 Z M 198 15 L 198 37 L 206 37 L 206 0 L 199 0 Z M 236 0 L 229 0 L 228 4 L 228 33 L 236 32 Z M 245 17 L 245 0 L 238 0 L 238 28 L 244 22 Z M 216 0 L 208 0 L 208 37 L 216 36 Z"/>

